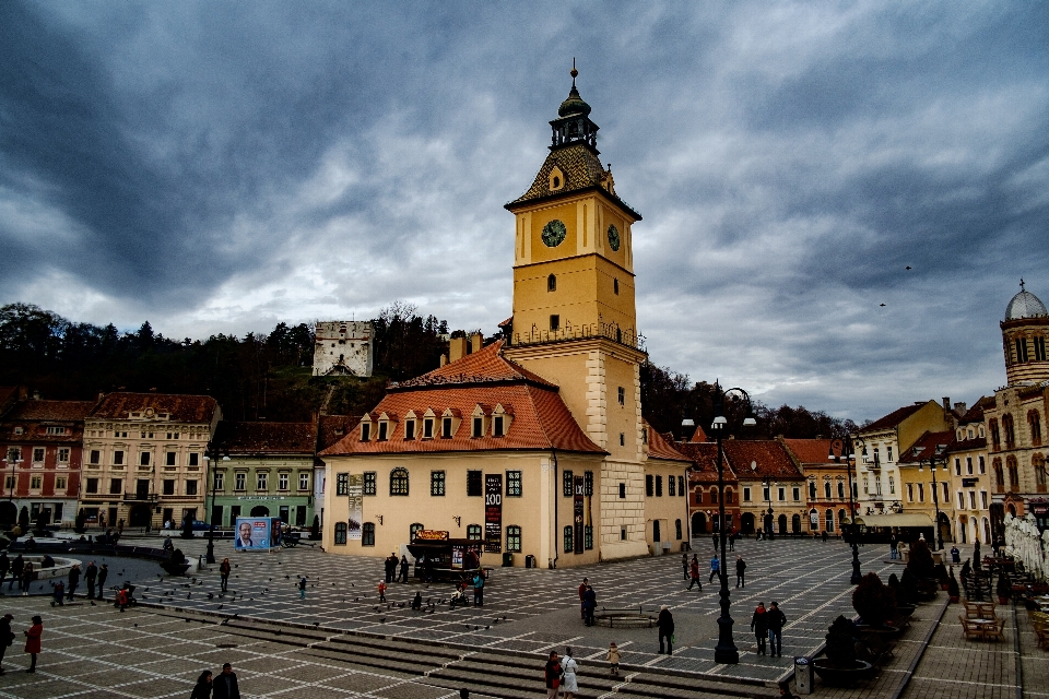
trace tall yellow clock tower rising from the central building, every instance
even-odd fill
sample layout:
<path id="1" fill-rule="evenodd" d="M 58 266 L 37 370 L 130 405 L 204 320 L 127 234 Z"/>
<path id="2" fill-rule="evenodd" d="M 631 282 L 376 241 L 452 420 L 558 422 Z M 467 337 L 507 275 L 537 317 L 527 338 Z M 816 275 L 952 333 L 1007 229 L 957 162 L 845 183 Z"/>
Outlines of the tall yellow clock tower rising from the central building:
<path id="1" fill-rule="evenodd" d="M 576 87 L 550 122 L 550 154 L 515 215 L 514 317 L 504 355 L 561 387 L 576 422 L 609 452 L 602 465 L 603 559 L 643 555 L 645 445 L 633 225 Z M 604 490 L 608 490 L 605 493 Z"/>

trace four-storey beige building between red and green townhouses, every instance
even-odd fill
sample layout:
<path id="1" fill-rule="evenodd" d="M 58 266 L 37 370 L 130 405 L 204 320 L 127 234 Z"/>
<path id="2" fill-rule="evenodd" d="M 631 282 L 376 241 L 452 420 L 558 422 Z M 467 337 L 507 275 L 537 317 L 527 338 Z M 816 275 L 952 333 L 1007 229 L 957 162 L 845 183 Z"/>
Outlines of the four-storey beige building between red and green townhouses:
<path id="1" fill-rule="evenodd" d="M 204 451 L 221 417 L 207 395 L 104 396 L 84 424 L 81 507 L 98 508 L 110 525 L 203 519 Z"/>

